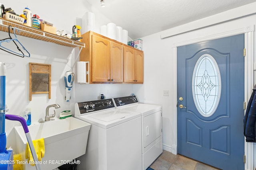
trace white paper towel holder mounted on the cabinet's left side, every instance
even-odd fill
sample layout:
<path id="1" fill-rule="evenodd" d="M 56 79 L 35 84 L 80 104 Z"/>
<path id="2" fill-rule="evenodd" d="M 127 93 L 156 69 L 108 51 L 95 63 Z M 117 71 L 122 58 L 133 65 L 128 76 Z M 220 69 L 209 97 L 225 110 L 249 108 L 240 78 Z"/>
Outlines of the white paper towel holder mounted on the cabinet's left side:
<path id="1" fill-rule="evenodd" d="M 89 61 L 77 62 L 77 82 L 89 84 Z"/>

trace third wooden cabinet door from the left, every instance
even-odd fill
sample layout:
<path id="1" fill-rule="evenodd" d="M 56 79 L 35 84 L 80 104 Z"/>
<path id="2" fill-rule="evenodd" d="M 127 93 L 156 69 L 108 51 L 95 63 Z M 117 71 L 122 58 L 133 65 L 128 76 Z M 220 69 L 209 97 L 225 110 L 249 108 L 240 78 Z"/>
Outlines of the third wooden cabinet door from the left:
<path id="1" fill-rule="evenodd" d="M 134 49 L 124 47 L 124 82 L 135 81 L 134 56 L 135 56 Z"/>

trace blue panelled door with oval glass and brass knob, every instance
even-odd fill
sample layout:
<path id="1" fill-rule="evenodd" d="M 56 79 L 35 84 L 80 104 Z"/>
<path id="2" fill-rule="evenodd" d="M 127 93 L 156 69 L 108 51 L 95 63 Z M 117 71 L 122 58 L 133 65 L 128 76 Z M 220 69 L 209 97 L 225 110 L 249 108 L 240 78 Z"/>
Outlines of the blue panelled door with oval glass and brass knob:
<path id="1" fill-rule="evenodd" d="M 244 170 L 244 34 L 177 48 L 178 154 Z"/>

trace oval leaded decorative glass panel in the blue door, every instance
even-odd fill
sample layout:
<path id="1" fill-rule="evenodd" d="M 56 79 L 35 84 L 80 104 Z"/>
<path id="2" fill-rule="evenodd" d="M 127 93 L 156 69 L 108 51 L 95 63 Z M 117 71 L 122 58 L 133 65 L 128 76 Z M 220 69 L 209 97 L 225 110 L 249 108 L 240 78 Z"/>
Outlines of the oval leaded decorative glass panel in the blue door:
<path id="1" fill-rule="evenodd" d="M 202 55 L 192 77 L 192 94 L 196 109 L 204 117 L 211 116 L 220 101 L 221 78 L 218 64 L 211 55 Z"/>

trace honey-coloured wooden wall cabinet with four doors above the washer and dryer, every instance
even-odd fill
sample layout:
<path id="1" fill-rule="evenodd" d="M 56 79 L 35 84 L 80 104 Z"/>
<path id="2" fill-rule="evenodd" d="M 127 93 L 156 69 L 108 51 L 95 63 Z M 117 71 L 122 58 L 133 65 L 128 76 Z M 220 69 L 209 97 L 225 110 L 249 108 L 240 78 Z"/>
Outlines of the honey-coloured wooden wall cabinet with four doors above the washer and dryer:
<path id="1" fill-rule="evenodd" d="M 80 61 L 89 61 L 89 83 L 143 83 L 143 51 L 92 31 L 84 33 L 82 37 L 86 45 L 80 53 Z M 133 51 L 133 61 L 128 61 L 130 58 L 127 57 L 124 61 L 124 49 Z M 130 62 L 134 63 L 131 64 L 132 68 Z M 124 81 L 124 75 L 130 72 L 128 67 L 133 72 L 129 74 L 134 74 L 132 81 Z"/>

